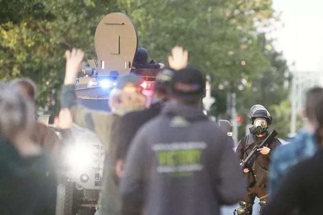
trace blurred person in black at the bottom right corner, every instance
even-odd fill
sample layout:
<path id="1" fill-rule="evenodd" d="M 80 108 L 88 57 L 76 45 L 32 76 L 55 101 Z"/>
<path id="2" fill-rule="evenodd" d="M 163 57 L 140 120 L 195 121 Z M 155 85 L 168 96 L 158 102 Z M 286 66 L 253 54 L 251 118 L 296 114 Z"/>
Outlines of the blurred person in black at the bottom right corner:
<path id="1" fill-rule="evenodd" d="M 322 214 L 323 193 L 323 96 L 317 97 L 314 110 L 315 138 L 320 145 L 317 153 L 290 168 L 273 192 L 263 215 L 288 215 L 298 208 L 298 215 Z"/>

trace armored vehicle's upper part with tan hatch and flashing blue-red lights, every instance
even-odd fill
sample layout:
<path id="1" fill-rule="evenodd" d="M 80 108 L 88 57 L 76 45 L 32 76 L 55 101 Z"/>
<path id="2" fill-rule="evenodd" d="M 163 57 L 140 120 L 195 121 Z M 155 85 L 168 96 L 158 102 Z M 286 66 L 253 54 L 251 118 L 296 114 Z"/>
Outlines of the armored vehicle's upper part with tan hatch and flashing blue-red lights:
<path id="1" fill-rule="evenodd" d="M 122 13 L 105 16 L 96 28 L 94 46 L 97 60 L 90 60 L 90 66 L 83 67 L 82 77 L 76 80 L 76 95 L 85 107 L 109 111 L 109 93 L 116 87 L 117 77 L 129 73 L 140 75 L 143 93 L 151 95 L 160 66 L 150 66 L 155 64 L 153 60 L 133 66 L 138 36 L 129 17 Z"/>

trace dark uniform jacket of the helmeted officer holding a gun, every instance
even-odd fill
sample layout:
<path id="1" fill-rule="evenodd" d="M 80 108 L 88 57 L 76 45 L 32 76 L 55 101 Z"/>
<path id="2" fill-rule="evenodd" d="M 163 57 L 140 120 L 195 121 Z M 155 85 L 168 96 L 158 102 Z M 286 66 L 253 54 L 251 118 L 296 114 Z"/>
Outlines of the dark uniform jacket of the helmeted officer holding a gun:
<path id="1" fill-rule="evenodd" d="M 243 137 L 240 140 L 236 150 L 239 160 L 242 162 L 242 160 L 246 159 L 253 150 L 254 146 L 259 145 L 266 137 L 267 135 L 257 137 L 253 134 Z M 264 155 L 258 152 L 254 155 L 254 158 L 252 159 L 253 165 L 249 167 L 251 171 L 245 173 L 249 187 L 253 187 L 255 184 L 259 187 L 267 187 L 271 157 L 274 149 L 279 146 L 281 146 L 281 143 L 277 138 L 275 138 L 270 145 L 266 145 L 266 147 L 271 149 L 268 154 Z M 254 175 L 256 175 L 256 178 L 254 178 Z"/>

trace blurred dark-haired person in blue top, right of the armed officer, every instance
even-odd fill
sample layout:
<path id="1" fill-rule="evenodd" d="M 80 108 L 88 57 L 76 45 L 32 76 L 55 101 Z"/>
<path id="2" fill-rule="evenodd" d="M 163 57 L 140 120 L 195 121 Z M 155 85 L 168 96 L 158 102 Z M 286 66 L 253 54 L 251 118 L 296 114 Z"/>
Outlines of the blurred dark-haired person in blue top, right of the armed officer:
<path id="1" fill-rule="evenodd" d="M 287 175 L 287 170 L 290 167 L 312 157 L 318 150 L 314 138 L 316 124 L 314 110 L 318 103 L 317 98 L 321 96 L 323 96 L 323 88 L 321 87 L 313 87 L 307 91 L 305 109 L 302 111 L 302 117 L 307 118 L 306 129 L 300 131 L 290 144 L 280 147 L 274 152 L 269 172 L 270 194 L 276 191 L 279 182 Z"/>

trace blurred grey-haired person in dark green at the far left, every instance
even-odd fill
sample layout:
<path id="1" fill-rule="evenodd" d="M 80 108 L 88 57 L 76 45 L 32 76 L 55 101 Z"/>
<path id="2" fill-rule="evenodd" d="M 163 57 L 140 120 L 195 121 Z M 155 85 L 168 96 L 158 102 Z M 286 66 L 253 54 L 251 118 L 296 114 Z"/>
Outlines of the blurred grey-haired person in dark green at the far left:
<path id="1" fill-rule="evenodd" d="M 0 214 L 55 215 L 57 176 L 33 142 L 33 104 L 19 88 L 0 88 Z"/>

